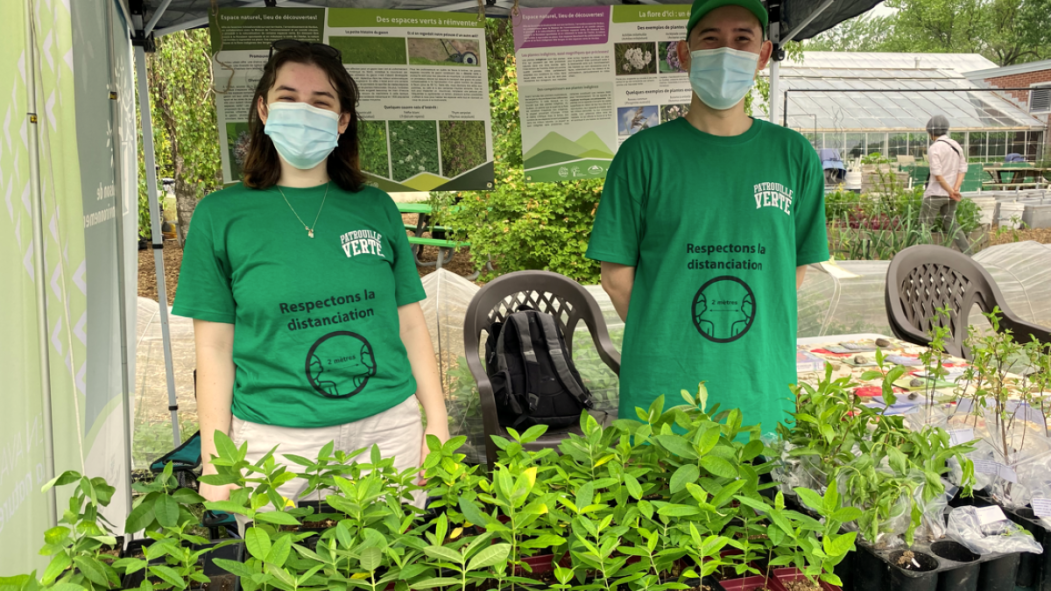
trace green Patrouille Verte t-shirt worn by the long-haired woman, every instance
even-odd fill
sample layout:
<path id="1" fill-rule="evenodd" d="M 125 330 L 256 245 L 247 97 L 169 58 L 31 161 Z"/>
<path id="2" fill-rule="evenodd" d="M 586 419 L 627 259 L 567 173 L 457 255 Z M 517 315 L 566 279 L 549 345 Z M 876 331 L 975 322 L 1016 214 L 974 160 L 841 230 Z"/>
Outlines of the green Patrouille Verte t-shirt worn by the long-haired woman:
<path id="1" fill-rule="evenodd" d="M 186 237 L 173 314 L 233 324 L 233 415 L 316 428 L 405 402 L 416 381 L 398 306 L 425 299 L 390 196 L 335 183 L 234 185 L 206 197 Z"/>

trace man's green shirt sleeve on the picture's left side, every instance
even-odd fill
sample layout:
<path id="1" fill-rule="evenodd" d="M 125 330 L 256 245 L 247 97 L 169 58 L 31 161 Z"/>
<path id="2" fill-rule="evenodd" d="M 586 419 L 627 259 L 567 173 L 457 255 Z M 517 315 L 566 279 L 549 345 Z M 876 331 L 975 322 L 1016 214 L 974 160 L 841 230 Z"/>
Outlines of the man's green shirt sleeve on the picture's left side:
<path id="1" fill-rule="evenodd" d="M 637 267 L 642 243 L 644 168 L 635 149 L 637 141 L 624 142 L 606 171 L 598 211 L 592 225 L 586 257 L 595 261 Z"/>

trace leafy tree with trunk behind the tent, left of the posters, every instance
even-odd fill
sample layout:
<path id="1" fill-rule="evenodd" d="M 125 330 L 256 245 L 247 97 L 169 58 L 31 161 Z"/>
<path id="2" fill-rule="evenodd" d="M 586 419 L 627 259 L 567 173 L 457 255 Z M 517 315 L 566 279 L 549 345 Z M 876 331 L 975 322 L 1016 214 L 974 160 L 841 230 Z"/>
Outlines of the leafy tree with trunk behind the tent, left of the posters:
<path id="1" fill-rule="evenodd" d="M 158 176 L 176 180 L 180 244 L 197 202 L 223 184 L 210 73 L 209 37 L 203 28 L 162 37 L 157 52 L 146 58 Z M 145 184 L 140 186 L 142 202 Z"/>

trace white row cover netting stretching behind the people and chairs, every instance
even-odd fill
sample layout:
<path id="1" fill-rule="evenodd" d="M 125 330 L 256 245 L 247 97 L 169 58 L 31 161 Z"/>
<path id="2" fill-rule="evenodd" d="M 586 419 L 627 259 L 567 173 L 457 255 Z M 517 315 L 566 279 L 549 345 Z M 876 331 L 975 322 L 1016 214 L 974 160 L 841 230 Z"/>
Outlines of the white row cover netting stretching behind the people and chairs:
<path id="1" fill-rule="evenodd" d="M 974 259 L 989 270 L 1015 313 L 1042 326 L 1051 326 L 1051 246 L 1035 242 L 1007 244 L 987 248 Z M 884 304 L 888 264 L 887 261 L 840 262 L 841 269 L 854 276 L 844 278 L 811 266 L 799 292 L 798 335 L 890 334 Z M 465 447 L 468 461 L 483 462 L 481 409 L 463 350 L 463 318 L 479 287 L 459 276 L 438 270 L 424 278 L 424 288 L 427 300 L 421 305 L 434 350 L 438 353 L 450 431 L 453 435 L 468 436 Z M 623 322 L 601 287 L 593 285 L 586 289 L 602 309 L 610 337 L 619 349 L 624 334 Z M 132 407 L 136 468 L 144 468 L 148 462 L 172 449 L 158 311 L 156 302 L 139 299 L 138 380 Z M 189 319 L 169 318 L 176 391 L 183 436 L 186 437 L 195 430 L 197 423 L 192 382 L 193 328 Z M 976 311 L 971 314 L 971 323 L 987 326 Z M 480 342 L 485 343 L 485 338 Z M 573 345 L 574 363 L 595 395 L 596 406 L 616 412 L 617 376 L 599 359 L 583 323 L 574 335 Z"/>

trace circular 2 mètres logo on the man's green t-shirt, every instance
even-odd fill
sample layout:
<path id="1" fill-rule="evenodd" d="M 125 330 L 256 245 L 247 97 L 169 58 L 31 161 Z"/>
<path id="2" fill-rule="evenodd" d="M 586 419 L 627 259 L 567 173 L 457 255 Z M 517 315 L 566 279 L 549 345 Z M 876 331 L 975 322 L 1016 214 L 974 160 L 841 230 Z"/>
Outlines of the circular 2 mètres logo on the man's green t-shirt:
<path id="1" fill-rule="evenodd" d="M 756 320 L 756 294 L 736 277 L 717 277 L 697 290 L 692 315 L 694 326 L 705 339 L 730 343 L 751 328 Z"/>

